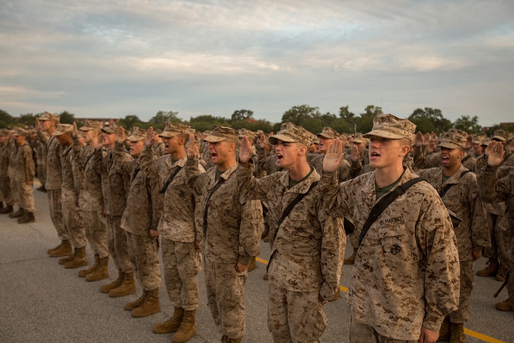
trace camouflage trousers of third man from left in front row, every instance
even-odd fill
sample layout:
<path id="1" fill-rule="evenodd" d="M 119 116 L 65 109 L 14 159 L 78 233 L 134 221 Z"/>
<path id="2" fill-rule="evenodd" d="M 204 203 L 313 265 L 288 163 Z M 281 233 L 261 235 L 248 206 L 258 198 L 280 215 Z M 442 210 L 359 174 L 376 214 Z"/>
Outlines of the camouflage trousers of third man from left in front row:
<path id="1" fill-rule="evenodd" d="M 48 191 L 50 192 L 50 191 Z M 86 228 L 86 237 L 91 250 L 100 258 L 109 257 L 109 248 L 107 247 L 107 234 L 105 218 L 102 211 L 84 211 L 82 210 L 82 219 Z"/>

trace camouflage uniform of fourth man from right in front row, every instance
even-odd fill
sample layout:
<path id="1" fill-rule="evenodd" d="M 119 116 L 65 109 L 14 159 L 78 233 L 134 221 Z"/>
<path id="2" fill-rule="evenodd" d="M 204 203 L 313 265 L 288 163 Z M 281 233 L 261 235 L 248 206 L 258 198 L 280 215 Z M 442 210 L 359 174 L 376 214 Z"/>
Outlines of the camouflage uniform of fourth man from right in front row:
<path id="1" fill-rule="evenodd" d="M 165 130 L 163 135 L 168 135 L 168 131 Z M 160 185 L 166 184 L 180 168 L 164 192 L 164 207 L 157 229 L 162 236 L 162 262 L 168 296 L 175 308 L 197 310 L 200 305 L 198 273 L 201 270 L 201 254 L 200 250 L 195 249 L 194 242 L 201 241 L 203 232 L 201 221 L 195 224 L 195 194 L 186 186 L 189 179 L 183 167 L 187 156 L 173 161 L 170 155 L 157 157 L 152 148 L 145 147 L 140 160 L 141 173 L 158 178 Z M 198 165 L 198 170 L 205 172 L 201 165 Z M 201 214 L 196 212 L 196 219 L 200 219 Z"/>

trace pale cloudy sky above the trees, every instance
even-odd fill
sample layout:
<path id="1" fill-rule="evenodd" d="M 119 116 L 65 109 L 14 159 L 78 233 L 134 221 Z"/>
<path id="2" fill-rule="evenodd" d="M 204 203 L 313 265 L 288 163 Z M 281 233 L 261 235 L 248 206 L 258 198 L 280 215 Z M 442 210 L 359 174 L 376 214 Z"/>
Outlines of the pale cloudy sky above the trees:
<path id="1" fill-rule="evenodd" d="M 514 2 L 3 0 L 0 109 L 281 120 L 291 106 L 514 121 Z"/>

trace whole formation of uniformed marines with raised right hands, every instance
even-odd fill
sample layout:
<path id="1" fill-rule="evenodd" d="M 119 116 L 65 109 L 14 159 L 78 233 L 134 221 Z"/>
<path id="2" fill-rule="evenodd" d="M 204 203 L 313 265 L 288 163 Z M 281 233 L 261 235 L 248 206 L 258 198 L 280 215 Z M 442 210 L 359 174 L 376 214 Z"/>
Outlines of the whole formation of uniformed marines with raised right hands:
<path id="1" fill-rule="evenodd" d="M 48 249 L 79 277 L 99 281 L 133 317 L 160 311 L 161 268 L 173 316 L 153 332 L 186 342 L 196 333 L 198 274 L 222 342 L 245 335 L 244 287 L 260 240 L 271 255 L 268 330 L 275 342 L 319 342 L 323 305 L 347 301 L 350 341 L 465 342 L 478 272 L 514 280 L 514 139 L 452 129 L 415 133 L 407 119 L 379 114 L 366 134 L 329 127 L 313 135 L 292 123 L 277 134 L 213 125 L 195 132 L 125 133 L 87 120 L 61 124 L 45 112 L 32 131 L 0 130 L 0 213 L 32 223 L 37 170 L 61 243 Z M 35 160 L 35 163 L 34 163 Z M 14 206 L 17 210 L 14 211 Z M 264 229 L 263 229 L 264 228 Z M 344 259 L 346 237 L 353 255 Z M 88 261 L 86 245 L 94 255 Z"/>

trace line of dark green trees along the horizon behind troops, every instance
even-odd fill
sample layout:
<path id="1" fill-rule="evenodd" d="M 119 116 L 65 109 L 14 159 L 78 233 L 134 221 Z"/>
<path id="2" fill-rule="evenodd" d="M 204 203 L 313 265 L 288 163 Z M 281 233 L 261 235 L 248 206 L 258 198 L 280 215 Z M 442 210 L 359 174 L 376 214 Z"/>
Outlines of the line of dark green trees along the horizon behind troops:
<path id="1" fill-rule="evenodd" d="M 292 106 L 289 110 L 285 111 L 282 115 L 281 122 L 278 123 L 271 123 L 265 119 L 255 119 L 253 117 L 253 111 L 241 109 L 235 110 L 230 118 L 206 114 L 191 117 L 189 120 L 183 120 L 178 117 L 178 112 L 158 111 L 149 121 L 143 121 L 137 115 L 127 115 L 124 118 L 120 118 L 118 124 L 128 130 L 132 129 L 134 126 L 143 129 L 153 127 L 154 129 L 162 130 L 164 129 L 166 121 L 173 121 L 188 124 L 192 129 L 196 129 L 197 131 L 210 130 L 211 125 L 218 124 L 236 130 L 246 128 L 252 131 L 262 130 L 268 133 L 271 131 L 279 131 L 282 123 L 290 121 L 314 134 L 320 133 L 325 126 L 331 127 L 339 133 L 366 133 L 372 130 L 373 119 L 379 113 L 383 113 L 382 107 L 368 105 L 365 107 L 364 112 L 358 115 L 350 112 L 348 106 L 341 106 L 337 115 L 330 112 L 323 114 L 319 111 L 318 106 L 303 104 Z M 13 126 L 33 127 L 33 125 L 35 125 L 35 119 L 41 115 L 43 115 L 43 113 L 27 113 L 20 115 L 19 118 L 15 118 L 6 111 L 0 110 L 0 128 Z M 63 111 L 59 116 L 61 117 L 61 123 L 72 124 L 76 121 L 75 115 L 67 111 Z M 452 122 L 443 116 L 441 110 L 431 107 L 415 109 L 407 119 L 416 124 L 416 132 L 434 132 L 440 134 L 452 128 L 464 130 L 469 134 L 484 132 L 482 126 L 479 124 L 478 116 L 461 116 Z M 495 124 L 485 133 L 492 135 L 493 132 L 498 129 L 514 132 L 513 126 Z"/>

